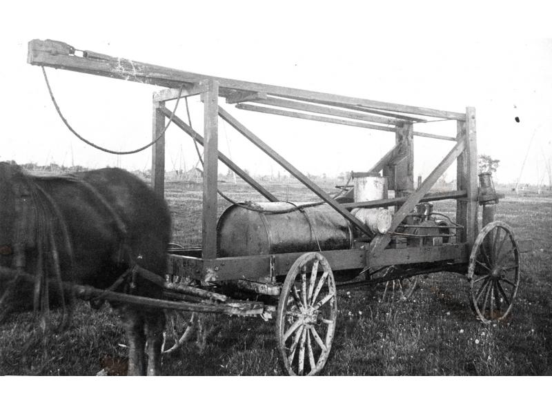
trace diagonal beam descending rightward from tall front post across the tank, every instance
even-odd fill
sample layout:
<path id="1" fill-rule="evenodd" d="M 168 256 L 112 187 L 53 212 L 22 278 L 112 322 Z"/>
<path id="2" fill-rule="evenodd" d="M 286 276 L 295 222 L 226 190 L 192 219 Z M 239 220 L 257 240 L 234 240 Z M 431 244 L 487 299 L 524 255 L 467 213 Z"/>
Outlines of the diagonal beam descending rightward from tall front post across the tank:
<path id="1" fill-rule="evenodd" d="M 353 216 L 351 213 L 349 213 L 345 208 L 341 206 L 341 204 L 337 203 L 332 197 L 330 197 L 322 188 L 319 188 L 311 179 L 306 177 L 302 172 L 297 170 L 293 165 L 291 165 L 284 157 L 279 155 L 275 150 L 270 148 L 270 146 L 266 145 L 257 135 L 253 134 L 250 130 L 248 130 L 244 125 L 240 124 L 237 119 L 235 119 L 232 115 L 230 115 L 226 110 L 219 107 L 219 115 L 222 119 L 224 119 L 228 124 L 233 126 L 235 130 L 240 132 L 244 137 L 246 137 L 249 141 L 251 141 L 255 146 L 259 147 L 268 157 L 272 158 L 274 161 L 276 161 L 280 166 L 284 167 L 288 172 L 290 172 L 293 177 L 297 178 L 299 181 L 302 182 L 309 190 L 311 190 L 313 193 L 315 193 L 318 197 L 326 201 L 334 210 L 337 211 L 340 215 L 342 215 L 347 221 L 350 221 L 355 226 L 357 226 L 360 230 L 362 230 L 363 233 L 368 235 L 368 237 L 373 237 L 373 233 L 370 229 L 368 229 L 362 221 L 357 219 L 357 217 Z"/>

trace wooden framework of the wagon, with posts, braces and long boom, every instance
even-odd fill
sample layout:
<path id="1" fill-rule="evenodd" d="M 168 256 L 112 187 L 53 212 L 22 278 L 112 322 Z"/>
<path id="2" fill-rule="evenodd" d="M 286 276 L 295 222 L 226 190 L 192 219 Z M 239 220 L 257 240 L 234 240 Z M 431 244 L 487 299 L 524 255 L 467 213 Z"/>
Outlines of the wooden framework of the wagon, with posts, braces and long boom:
<path id="1" fill-rule="evenodd" d="M 275 195 L 250 177 L 245 170 L 219 152 L 219 117 L 342 215 L 359 232 L 371 236 L 371 242 L 355 242 L 351 249 L 323 251 L 322 254 L 332 270 L 423 264 L 422 270 L 414 266 L 409 270 L 410 273 L 400 277 L 442 270 L 463 275 L 474 271 L 475 262 L 471 259 L 473 256 L 471 252 L 480 233 L 477 221 L 478 206 L 480 204 L 494 206 L 499 198 L 493 191 L 482 194 L 478 186 L 475 108 L 468 107 L 465 112 L 451 112 L 212 77 L 110 57 L 88 50 L 77 50 L 59 41 L 30 41 L 28 63 L 166 88 L 155 92 L 152 99 L 152 135 L 154 139 L 160 137 L 152 146 L 151 179 L 155 192 L 164 195 L 164 128 L 167 118 L 172 119 L 172 123 L 204 146 L 201 248 L 171 249 L 168 254 L 168 273 L 171 275 L 191 277 L 204 284 L 242 281 L 237 283 L 246 290 L 277 295 L 280 292 L 279 287 L 282 286 L 282 276 L 288 274 L 290 268 L 304 255 L 304 253 L 292 252 L 247 257 L 217 257 L 217 164 L 219 160 L 268 201 L 278 201 Z M 201 101 L 204 103 L 204 137 L 165 106 L 167 101 L 191 95 L 201 95 Z M 242 110 L 393 133 L 395 146 L 368 171 L 384 170 L 386 175 L 392 177 L 389 188 L 395 190 L 395 198 L 339 203 L 259 139 L 255 133 L 248 130 L 233 115 L 221 108 L 219 97 L 226 99 L 226 103 L 236 104 L 236 107 Z M 455 121 L 456 136 L 446 137 L 415 130 L 416 124 L 437 120 Z M 415 136 L 453 141 L 453 148 L 417 188 L 414 185 L 413 174 Z M 429 193 L 437 179 L 454 161 L 457 161 L 457 189 L 443 193 Z M 442 199 L 456 200 L 455 237 L 448 243 L 442 244 L 420 243 L 420 246 L 399 246 L 396 230 L 415 206 L 420 202 Z M 391 228 L 383 235 L 375 235 L 362 221 L 351 214 L 353 208 L 387 206 L 395 206 L 396 211 Z M 484 225 L 493 221 L 492 208 L 489 208 L 490 213 L 484 214 Z M 513 244 L 515 244 L 514 241 Z M 514 254 L 517 260 L 519 260 L 518 253 L 519 249 L 515 244 Z M 519 266 L 517 266 L 517 273 L 519 274 Z M 368 280 L 365 282 L 382 282 L 396 277 L 397 275 L 390 277 L 375 273 L 367 277 Z M 351 284 L 354 283 L 351 282 Z"/>

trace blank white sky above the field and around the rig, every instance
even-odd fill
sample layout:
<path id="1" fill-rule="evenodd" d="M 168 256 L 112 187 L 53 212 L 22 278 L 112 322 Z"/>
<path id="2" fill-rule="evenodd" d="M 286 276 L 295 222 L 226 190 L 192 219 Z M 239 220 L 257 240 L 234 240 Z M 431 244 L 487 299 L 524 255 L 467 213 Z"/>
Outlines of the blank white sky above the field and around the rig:
<path id="1" fill-rule="evenodd" d="M 41 70 L 26 63 L 28 41 L 55 39 L 206 75 L 456 112 L 474 106 L 478 152 L 500 159 L 495 181 L 548 184 L 548 10 L 530 1 L 523 7 L 490 2 L 484 8 L 471 1 L 454 8 L 442 2 L 381 3 L 168 1 L 162 7 L 136 1 L 20 1 L 3 6 L 0 161 L 150 168 L 150 150 L 108 155 L 78 141 L 61 123 Z M 83 137 L 113 150 L 132 150 L 152 139 L 151 96 L 161 88 L 47 72 L 63 114 Z M 265 115 L 220 102 L 303 172 L 333 176 L 367 170 L 394 143 L 391 132 Z M 190 111 L 194 128 L 202 132 L 198 98 L 190 100 Z M 183 101 L 177 115 L 186 119 Z M 454 136 L 456 125 L 447 121 L 415 130 Z M 415 137 L 415 175 L 426 177 L 452 145 Z M 166 149 L 167 170 L 197 165 L 190 137 L 176 126 L 168 128 Z M 283 172 L 221 120 L 219 150 L 255 175 Z M 451 168 L 446 180 L 454 177 Z"/>

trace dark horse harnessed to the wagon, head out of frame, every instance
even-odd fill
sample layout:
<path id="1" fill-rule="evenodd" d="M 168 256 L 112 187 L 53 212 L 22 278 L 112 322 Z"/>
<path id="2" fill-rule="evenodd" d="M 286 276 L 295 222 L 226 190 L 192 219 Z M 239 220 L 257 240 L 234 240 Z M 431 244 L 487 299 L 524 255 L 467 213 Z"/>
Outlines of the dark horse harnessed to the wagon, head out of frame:
<path id="1" fill-rule="evenodd" d="M 132 270 L 165 275 L 170 226 L 163 197 L 125 170 L 39 177 L 0 162 L 0 269 L 16 274 L 0 278 L 0 305 L 8 313 L 32 302 L 48 331 L 50 305 L 69 314 L 67 282 L 159 299 L 161 288 Z M 128 339 L 128 375 L 159 375 L 164 311 L 111 306 Z"/>

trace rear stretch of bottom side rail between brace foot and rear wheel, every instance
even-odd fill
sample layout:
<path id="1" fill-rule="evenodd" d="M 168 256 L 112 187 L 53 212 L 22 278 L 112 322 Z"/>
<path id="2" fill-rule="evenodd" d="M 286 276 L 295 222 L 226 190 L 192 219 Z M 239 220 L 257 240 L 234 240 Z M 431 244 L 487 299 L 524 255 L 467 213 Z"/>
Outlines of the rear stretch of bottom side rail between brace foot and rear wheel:
<path id="1" fill-rule="evenodd" d="M 442 246 L 422 246 L 407 248 L 387 248 L 380 255 L 368 256 L 368 266 L 378 268 L 393 264 L 431 263 L 454 260 L 468 262 L 467 244 L 443 244 Z"/>

